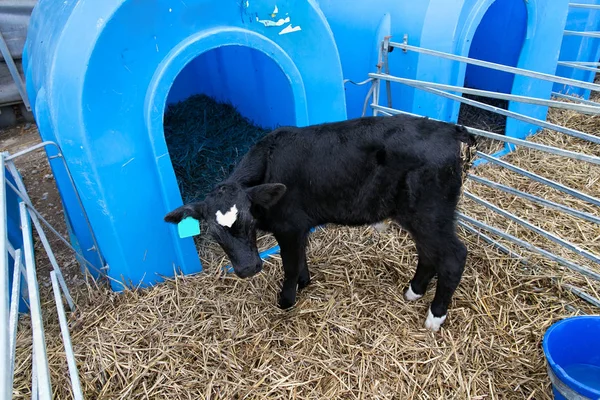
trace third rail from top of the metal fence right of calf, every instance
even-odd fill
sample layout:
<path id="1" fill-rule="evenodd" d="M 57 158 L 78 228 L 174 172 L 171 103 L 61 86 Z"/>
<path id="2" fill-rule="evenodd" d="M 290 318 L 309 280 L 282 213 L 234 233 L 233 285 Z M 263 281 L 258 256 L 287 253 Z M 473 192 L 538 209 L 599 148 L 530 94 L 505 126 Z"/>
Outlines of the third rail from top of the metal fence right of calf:
<path id="1" fill-rule="evenodd" d="M 402 78 L 400 78 L 400 79 L 402 79 Z M 464 103 L 464 104 L 468 104 L 473 107 L 481 108 L 482 110 L 492 111 L 492 112 L 495 112 L 496 114 L 504 115 L 506 117 L 510 117 L 510 118 L 514 118 L 514 119 L 517 119 L 520 121 L 528 122 L 530 124 L 534 124 L 534 125 L 540 126 L 542 128 L 551 129 L 556 132 L 564 133 L 565 135 L 573 136 L 573 137 L 576 137 L 579 139 L 587 140 L 592 143 L 600 144 L 600 136 L 590 135 L 589 133 L 584 133 L 584 132 L 576 131 L 574 129 L 565 128 L 564 126 L 556 125 L 551 122 L 546 122 L 541 119 L 528 117 L 526 115 L 519 114 L 519 113 L 516 113 L 513 111 L 503 110 L 502 108 L 490 106 L 488 104 L 481 103 L 479 101 L 475 101 L 475 100 L 471 100 L 471 99 L 467 99 L 465 97 L 457 96 L 452 93 L 447 93 L 442 90 L 432 89 L 432 88 L 429 88 L 424 85 L 420 85 L 420 84 L 416 84 L 416 83 L 409 83 L 409 82 L 403 82 L 403 83 L 405 85 L 421 89 L 425 92 L 437 94 L 442 97 L 456 100 L 460 103 Z"/>

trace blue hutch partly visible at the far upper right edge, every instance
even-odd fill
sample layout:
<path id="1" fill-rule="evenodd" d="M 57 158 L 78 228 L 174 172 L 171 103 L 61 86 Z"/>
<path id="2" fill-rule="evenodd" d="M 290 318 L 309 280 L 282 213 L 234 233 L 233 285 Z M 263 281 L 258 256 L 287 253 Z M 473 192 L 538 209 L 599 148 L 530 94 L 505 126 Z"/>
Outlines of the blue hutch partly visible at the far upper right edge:
<path id="1" fill-rule="evenodd" d="M 577 3 L 600 5 L 600 0 L 577 0 Z M 565 30 L 574 32 L 600 31 L 600 10 L 579 7 L 570 8 Z M 600 61 L 600 39 L 578 35 L 565 35 L 560 49 L 560 61 L 597 63 Z M 596 67 L 592 66 L 592 68 Z M 584 82 L 593 82 L 596 77 L 594 71 L 572 68 L 564 65 L 558 66 L 556 75 Z M 580 96 L 584 99 L 590 98 L 589 89 L 582 89 L 559 83 L 554 85 L 554 91 Z"/>

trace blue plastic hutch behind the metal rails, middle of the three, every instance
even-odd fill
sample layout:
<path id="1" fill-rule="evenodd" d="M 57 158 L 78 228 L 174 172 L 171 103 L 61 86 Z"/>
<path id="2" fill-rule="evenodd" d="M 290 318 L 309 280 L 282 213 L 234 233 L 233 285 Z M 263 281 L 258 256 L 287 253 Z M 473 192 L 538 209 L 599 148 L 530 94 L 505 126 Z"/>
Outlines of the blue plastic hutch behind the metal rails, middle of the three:
<path id="1" fill-rule="evenodd" d="M 568 0 L 319 0 L 340 51 L 344 78 L 363 81 L 375 72 L 378 45 L 386 35 L 408 44 L 484 61 L 554 74 Z M 428 82 L 496 90 L 549 99 L 552 83 L 399 49 L 390 73 Z M 348 117 L 362 113 L 368 85 L 346 84 Z M 385 85 L 381 103 L 386 104 Z M 419 89 L 392 84 L 394 108 L 456 122 L 460 105 Z M 547 108 L 510 102 L 509 110 L 545 119 Z M 525 137 L 536 126 L 509 119 L 506 134 Z"/>

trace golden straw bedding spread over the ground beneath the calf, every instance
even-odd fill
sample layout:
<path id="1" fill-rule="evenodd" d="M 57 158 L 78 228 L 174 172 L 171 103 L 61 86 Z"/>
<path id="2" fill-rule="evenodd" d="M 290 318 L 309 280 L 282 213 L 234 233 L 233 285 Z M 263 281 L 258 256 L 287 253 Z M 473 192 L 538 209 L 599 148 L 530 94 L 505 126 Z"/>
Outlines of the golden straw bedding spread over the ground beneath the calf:
<path id="1" fill-rule="evenodd" d="M 552 111 L 549 118 L 600 134 L 598 117 Z M 597 145 L 560 134 L 543 132 L 533 140 L 600 153 Z M 600 195 L 596 167 L 525 149 L 507 159 Z M 484 165 L 474 173 L 598 215 L 597 209 L 496 167 Z M 466 189 L 600 253 L 597 227 L 473 182 Z M 471 201 L 461 208 L 541 247 L 555 247 Z M 529 257 L 523 265 L 459 230 L 470 255 L 438 334 L 423 328 L 433 287 L 418 302 L 402 298 L 416 252 L 394 225 L 384 233 L 369 227 L 315 232 L 308 249 L 313 283 L 290 312 L 275 306 L 282 278 L 278 256 L 245 281 L 222 276 L 219 267 L 228 261 L 204 246 L 206 271 L 198 276 L 122 295 L 90 282 L 77 294 L 79 309 L 71 316 L 86 398 L 550 399 L 541 350 L 545 329 L 577 312 L 597 312 L 560 284 L 578 284 L 596 297 L 600 287 L 512 247 Z M 45 296 L 53 390 L 56 398 L 70 398 L 55 310 Z M 23 318 L 17 398 L 29 396 L 30 338 Z"/>

